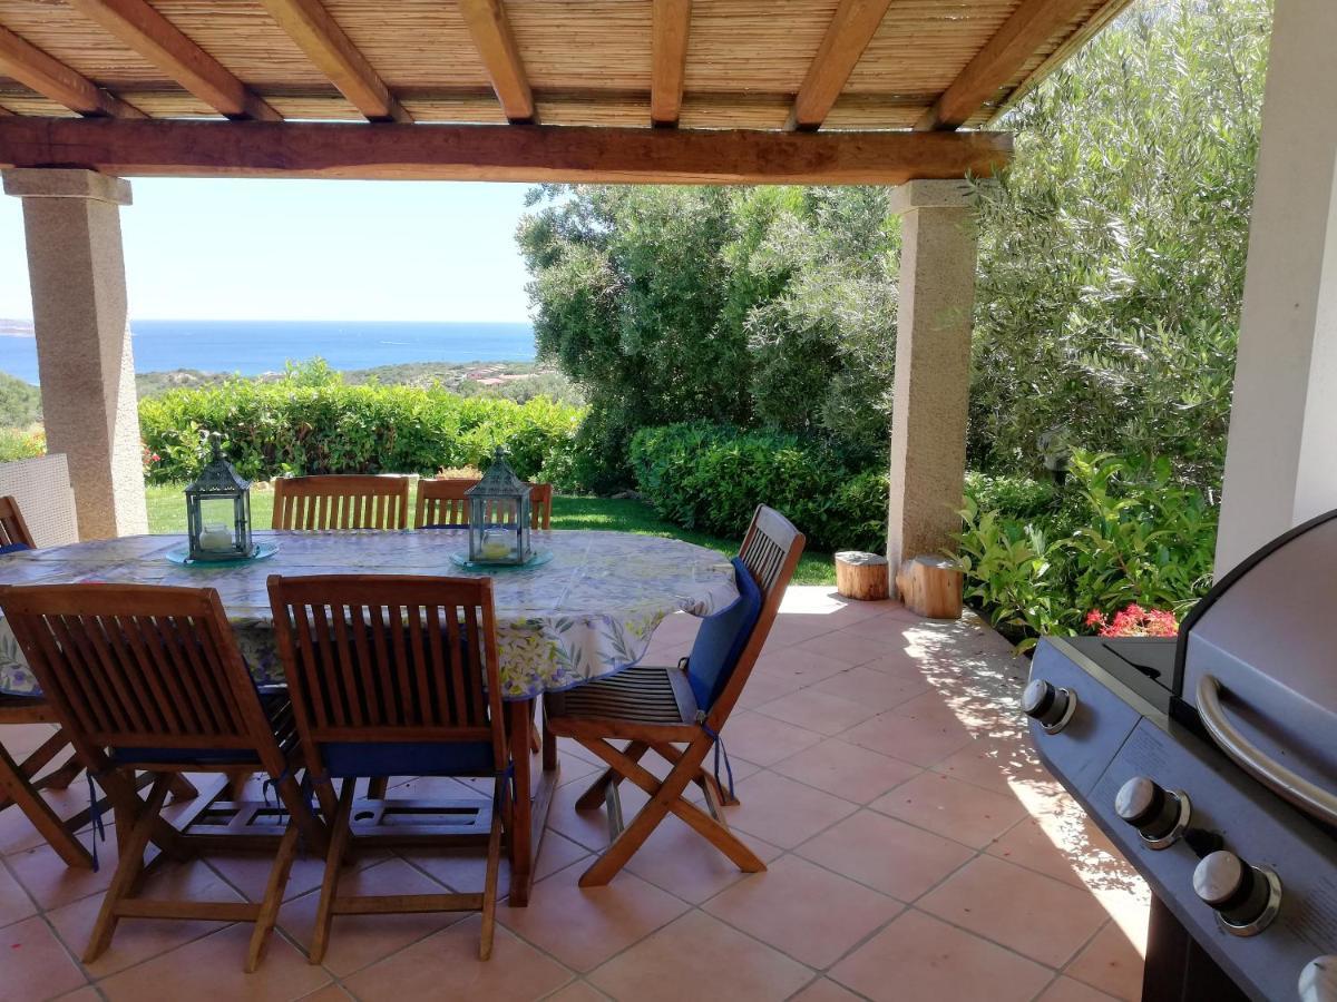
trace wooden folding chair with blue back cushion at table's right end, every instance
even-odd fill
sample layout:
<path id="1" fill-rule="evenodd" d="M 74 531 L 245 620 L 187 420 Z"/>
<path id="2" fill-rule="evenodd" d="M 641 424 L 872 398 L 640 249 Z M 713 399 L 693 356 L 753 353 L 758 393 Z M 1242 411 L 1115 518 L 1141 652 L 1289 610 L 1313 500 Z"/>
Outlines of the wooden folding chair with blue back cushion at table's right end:
<path id="1" fill-rule="evenodd" d="M 544 699 L 545 737 L 574 737 L 608 764 L 576 800 L 586 810 L 607 803 L 612 836 L 608 850 L 580 875 L 582 887 L 608 883 L 670 811 L 741 870 L 766 868 L 729 830 L 721 808 L 737 803 L 733 784 L 726 796 L 705 762 L 766 643 L 804 542 L 787 518 L 759 506 L 733 561 L 741 597 L 702 621 L 690 657 L 675 668 L 635 665 Z M 627 744 L 619 748 L 614 741 Z M 663 782 L 640 764 L 648 751 L 673 766 Z M 618 796 L 623 779 L 650 795 L 626 827 Z M 701 786 L 705 811 L 683 796 L 689 783 Z"/>

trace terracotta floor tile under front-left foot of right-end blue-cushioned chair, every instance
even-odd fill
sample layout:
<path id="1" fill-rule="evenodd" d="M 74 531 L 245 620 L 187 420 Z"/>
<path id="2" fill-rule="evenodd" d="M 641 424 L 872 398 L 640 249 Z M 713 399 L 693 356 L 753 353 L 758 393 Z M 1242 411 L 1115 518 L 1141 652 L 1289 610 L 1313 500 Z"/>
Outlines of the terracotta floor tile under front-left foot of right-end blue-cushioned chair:
<path id="1" fill-rule="evenodd" d="M 687 904 L 623 870 L 606 887 L 576 884 L 572 866 L 533 886 L 529 906 L 497 908 L 497 921 L 578 971 L 591 971 L 678 918 Z"/>

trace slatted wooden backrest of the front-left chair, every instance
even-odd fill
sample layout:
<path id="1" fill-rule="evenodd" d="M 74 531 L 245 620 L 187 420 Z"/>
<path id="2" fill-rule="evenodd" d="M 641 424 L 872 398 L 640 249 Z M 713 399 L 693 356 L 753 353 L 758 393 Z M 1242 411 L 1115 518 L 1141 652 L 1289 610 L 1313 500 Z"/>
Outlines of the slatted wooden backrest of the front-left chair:
<path id="1" fill-rule="evenodd" d="M 80 752 L 255 748 L 282 771 L 213 588 L 16 585 L 0 608 Z"/>

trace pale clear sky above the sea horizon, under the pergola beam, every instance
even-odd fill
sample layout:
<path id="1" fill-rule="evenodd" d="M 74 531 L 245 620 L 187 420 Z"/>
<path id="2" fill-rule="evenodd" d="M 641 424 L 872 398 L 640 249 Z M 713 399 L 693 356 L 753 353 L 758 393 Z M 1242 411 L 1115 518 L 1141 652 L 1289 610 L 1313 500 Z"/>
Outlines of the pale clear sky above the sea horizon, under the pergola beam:
<path id="1" fill-rule="evenodd" d="M 134 319 L 527 321 L 525 184 L 131 179 Z M 0 195 L 0 318 L 31 319 L 23 207 Z"/>

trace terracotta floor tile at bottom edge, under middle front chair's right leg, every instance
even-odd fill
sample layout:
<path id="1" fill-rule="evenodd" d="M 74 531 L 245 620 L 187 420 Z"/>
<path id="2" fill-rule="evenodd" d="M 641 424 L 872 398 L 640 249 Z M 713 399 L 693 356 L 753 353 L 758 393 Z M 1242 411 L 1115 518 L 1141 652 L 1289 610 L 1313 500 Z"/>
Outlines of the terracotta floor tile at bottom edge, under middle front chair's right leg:
<path id="1" fill-rule="evenodd" d="M 492 959 L 479 959 L 479 918 L 456 922 L 344 983 L 361 1002 L 488 999 L 531 1002 L 571 981 L 571 971 L 500 923 Z"/>

